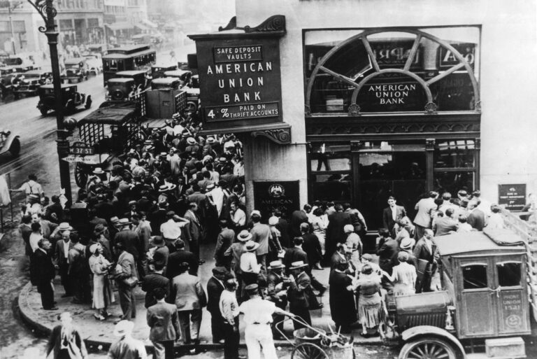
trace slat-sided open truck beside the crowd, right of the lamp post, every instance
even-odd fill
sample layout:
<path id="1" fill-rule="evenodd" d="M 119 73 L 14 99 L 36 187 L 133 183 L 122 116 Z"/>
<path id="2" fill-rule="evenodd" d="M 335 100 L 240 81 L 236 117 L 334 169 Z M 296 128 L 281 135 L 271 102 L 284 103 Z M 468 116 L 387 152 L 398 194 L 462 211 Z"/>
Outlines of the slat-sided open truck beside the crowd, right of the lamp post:
<path id="1" fill-rule="evenodd" d="M 110 171 L 117 156 L 141 140 L 140 122 L 130 103 L 101 107 L 78 121 L 78 134 L 86 150 L 73 155 L 71 162 L 76 162 L 75 181 L 80 188 L 95 167 Z"/>

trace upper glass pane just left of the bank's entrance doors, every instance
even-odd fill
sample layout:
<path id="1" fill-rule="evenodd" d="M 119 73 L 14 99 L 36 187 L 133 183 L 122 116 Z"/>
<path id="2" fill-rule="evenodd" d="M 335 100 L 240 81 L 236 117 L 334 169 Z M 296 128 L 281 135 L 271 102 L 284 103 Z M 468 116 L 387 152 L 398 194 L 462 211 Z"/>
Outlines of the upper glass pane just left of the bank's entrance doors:
<path id="1" fill-rule="evenodd" d="M 315 142 L 311 145 L 312 171 L 350 171 L 350 146 Z"/>

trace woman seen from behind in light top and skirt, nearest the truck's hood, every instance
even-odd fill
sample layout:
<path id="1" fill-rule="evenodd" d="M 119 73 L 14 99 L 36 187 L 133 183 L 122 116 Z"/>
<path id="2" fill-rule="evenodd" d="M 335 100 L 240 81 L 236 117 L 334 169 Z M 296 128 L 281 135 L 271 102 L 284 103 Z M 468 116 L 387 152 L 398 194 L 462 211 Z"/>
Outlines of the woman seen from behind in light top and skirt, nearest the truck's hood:
<path id="1" fill-rule="evenodd" d="M 359 288 L 358 316 L 361 335 L 368 337 L 368 331 L 378 327 L 382 318 L 382 297 L 380 297 L 380 276 L 373 272 L 371 265 L 364 265 L 355 286 Z"/>

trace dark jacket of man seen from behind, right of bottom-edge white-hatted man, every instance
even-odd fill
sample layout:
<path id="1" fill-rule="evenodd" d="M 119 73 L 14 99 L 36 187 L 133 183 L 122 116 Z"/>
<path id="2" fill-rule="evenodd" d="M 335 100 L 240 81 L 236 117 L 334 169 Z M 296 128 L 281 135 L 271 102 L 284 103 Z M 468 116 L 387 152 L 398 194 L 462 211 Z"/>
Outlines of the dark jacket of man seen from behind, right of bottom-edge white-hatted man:
<path id="1" fill-rule="evenodd" d="M 151 328 L 149 339 L 152 342 L 176 340 L 179 318 L 175 304 L 157 303 L 148 308 L 146 318 Z"/>

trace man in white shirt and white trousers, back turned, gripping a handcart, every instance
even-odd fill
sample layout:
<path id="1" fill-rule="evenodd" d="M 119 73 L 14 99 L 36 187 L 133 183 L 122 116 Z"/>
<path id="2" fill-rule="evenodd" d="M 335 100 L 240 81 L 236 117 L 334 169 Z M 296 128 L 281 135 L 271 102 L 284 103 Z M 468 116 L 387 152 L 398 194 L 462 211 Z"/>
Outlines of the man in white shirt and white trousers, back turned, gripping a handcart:
<path id="1" fill-rule="evenodd" d="M 259 346 L 263 348 L 265 359 L 278 359 L 271 330 L 272 315 L 294 317 L 294 314 L 276 307 L 273 302 L 262 299 L 259 296 L 257 284 L 250 284 L 245 287 L 245 290 L 250 300 L 243 302 L 238 307 L 238 311 L 244 314 L 243 321 L 246 323 L 244 339 L 248 348 L 248 359 L 261 358 Z"/>

